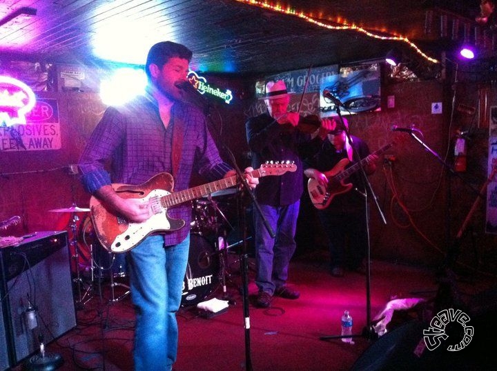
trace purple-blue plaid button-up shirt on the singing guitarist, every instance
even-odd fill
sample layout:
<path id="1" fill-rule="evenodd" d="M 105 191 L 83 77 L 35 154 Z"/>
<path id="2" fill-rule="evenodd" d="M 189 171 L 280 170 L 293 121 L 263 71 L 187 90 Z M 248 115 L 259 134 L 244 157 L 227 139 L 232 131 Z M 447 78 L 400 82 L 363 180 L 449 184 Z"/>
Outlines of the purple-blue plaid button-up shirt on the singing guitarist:
<path id="1" fill-rule="evenodd" d="M 166 130 L 157 103 L 150 96 L 140 97 L 122 108 L 109 107 L 79 160 L 86 190 L 93 193 L 110 183 L 139 185 L 159 172 L 172 173 L 173 118 L 177 116 L 183 120 L 184 137 L 174 174 L 175 191 L 188 188 L 193 172 L 208 181 L 224 177 L 231 167 L 220 158 L 202 112 L 188 103 L 177 102 L 171 116 Z M 189 233 L 191 205 L 177 205 L 168 214 L 186 222 L 184 228 L 164 235 L 165 245 L 175 245 Z"/>

